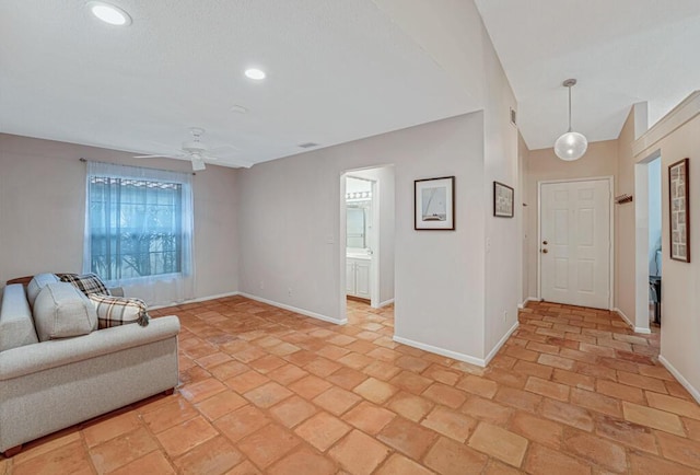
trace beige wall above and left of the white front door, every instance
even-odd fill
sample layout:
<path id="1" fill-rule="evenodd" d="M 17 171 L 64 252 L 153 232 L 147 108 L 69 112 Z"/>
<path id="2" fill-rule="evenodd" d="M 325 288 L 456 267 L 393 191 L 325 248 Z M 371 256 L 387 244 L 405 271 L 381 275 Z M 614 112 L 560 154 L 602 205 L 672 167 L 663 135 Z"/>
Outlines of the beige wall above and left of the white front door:
<path id="1" fill-rule="evenodd" d="M 537 242 L 537 183 L 551 179 L 573 179 L 599 176 L 617 176 L 617 140 L 593 142 L 588 144 L 585 155 L 574 162 L 565 162 L 555 155 L 552 149 L 530 150 L 527 159 L 527 294 L 537 297 L 537 260 L 539 246 Z M 612 195 L 617 194 L 616 189 Z"/>

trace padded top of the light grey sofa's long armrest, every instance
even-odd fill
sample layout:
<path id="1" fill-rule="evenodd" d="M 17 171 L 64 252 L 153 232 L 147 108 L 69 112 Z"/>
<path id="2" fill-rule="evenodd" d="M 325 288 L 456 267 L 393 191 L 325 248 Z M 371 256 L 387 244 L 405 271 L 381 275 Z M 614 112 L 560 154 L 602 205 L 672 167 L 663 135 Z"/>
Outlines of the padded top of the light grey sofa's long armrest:
<path id="1" fill-rule="evenodd" d="M 179 318 L 170 315 L 151 318 L 145 327 L 129 324 L 9 349 L 0 352 L 0 381 L 173 338 L 178 333 Z"/>

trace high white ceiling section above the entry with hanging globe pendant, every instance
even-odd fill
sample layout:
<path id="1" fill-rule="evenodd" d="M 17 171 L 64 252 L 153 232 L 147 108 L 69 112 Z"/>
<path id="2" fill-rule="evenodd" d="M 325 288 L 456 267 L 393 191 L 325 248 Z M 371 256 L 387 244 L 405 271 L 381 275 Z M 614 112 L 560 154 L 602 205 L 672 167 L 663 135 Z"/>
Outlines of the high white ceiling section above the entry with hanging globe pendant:
<path id="1" fill-rule="evenodd" d="M 616 139 L 630 106 L 649 103 L 650 126 L 700 89 L 698 0 L 476 0 L 518 101 L 529 149 L 573 128 Z"/>

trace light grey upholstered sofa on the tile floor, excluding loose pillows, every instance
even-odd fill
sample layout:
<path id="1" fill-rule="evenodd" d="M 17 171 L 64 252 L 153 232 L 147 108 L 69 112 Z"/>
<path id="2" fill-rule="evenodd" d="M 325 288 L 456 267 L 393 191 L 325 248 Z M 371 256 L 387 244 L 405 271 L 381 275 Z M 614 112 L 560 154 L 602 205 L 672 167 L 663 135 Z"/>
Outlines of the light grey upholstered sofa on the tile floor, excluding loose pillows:
<path id="1" fill-rule="evenodd" d="M 27 292 L 5 286 L 0 310 L 0 452 L 178 383 L 175 315 L 38 341 Z"/>

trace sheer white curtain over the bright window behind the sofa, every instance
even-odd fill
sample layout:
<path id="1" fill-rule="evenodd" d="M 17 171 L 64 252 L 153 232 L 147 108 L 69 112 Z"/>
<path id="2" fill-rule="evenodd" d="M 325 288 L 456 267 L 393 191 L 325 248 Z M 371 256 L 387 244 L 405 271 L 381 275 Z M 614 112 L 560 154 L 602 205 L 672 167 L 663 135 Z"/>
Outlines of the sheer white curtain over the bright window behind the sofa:
<path id="1" fill-rule="evenodd" d="M 89 161 L 83 271 L 149 305 L 192 299 L 191 179 Z"/>

